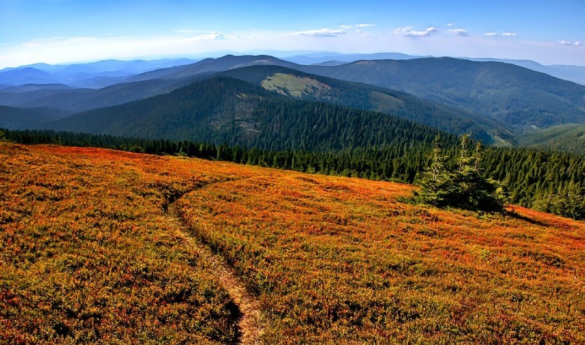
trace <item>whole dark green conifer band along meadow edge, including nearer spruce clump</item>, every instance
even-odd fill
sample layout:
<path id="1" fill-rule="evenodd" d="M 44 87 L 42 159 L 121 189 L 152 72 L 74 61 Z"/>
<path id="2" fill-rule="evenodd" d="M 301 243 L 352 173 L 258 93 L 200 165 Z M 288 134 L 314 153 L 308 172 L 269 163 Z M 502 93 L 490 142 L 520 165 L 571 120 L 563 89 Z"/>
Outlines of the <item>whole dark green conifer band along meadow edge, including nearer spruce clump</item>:
<path id="1" fill-rule="evenodd" d="M 149 154 L 180 154 L 234 163 L 292 169 L 313 174 L 329 174 L 418 183 L 423 189 L 441 185 L 432 174 L 448 174 L 453 186 L 467 186 L 467 204 L 455 207 L 500 209 L 501 193 L 512 204 L 531 207 L 573 219 L 585 219 L 585 156 L 529 148 L 475 150 L 466 139 L 465 146 L 455 137 L 441 134 L 413 143 L 407 136 L 392 145 L 345 147 L 338 150 L 269 150 L 257 147 L 167 139 L 140 139 L 123 136 L 54 132 L 41 130 L 0 130 L 0 139 L 25 144 L 51 143 L 82 147 L 106 147 Z M 496 184 L 497 182 L 497 184 Z M 498 191 L 498 187 L 502 188 Z M 459 188 L 459 187 L 458 187 Z M 494 189 L 495 188 L 495 189 Z M 496 199 L 487 198 L 497 195 Z M 444 206 L 450 191 L 428 195 L 426 202 Z M 480 193 L 474 195 L 471 193 Z M 484 198 L 484 199 L 482 199 Z M 436 201 L 433 201 L 436 200 Z M 473 201 L 475 200 L 475 201 Z M 483 201 L 480 201 L 483 200 Z M 494 204 L 490 204 L 494 202 Z M 481 203 L 481 204 L 480 204 Z"/>

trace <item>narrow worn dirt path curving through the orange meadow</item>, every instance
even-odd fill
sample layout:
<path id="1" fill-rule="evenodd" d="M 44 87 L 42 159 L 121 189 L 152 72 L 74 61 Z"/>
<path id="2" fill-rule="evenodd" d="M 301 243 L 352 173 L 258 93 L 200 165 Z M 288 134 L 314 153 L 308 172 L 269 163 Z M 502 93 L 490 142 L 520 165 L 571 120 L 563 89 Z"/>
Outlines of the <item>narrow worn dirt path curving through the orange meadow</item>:
<path id="1" fill-rule="evenodd" d="M 168 205 L 165 216 L 171 224 L 176 228 L 180 228 L 181 232 L 185 233 L 193 245 L 200 250 L 202 259 L 207 261 L 210 267 L 214 268 L 214 275 L 217 281 L 227 290 L 233 302 L 238 305 L 241 313 L 238 322 L 238 327 L 240 328 L 239 344 L 262 344 L 260 337 L 264 333 L 264 324 L 262 322 L 262 313 L 260 312 L 260 300 L 246 290 L 246 285 L 242 278 L 234 272 L 223 257 L 215 254 L 208 246 L 192 237 L 189 227 L 177 214 L 174 202 Z"/>

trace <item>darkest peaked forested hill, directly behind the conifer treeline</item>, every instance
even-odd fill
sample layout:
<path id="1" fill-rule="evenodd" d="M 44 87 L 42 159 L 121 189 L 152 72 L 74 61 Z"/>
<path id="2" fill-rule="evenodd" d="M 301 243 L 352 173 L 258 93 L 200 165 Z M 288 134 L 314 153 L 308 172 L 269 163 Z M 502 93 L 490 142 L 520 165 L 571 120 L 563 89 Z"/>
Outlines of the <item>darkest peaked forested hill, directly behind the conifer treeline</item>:
<path id="1" fill-rule="evenodd" d="M 269 150 L 339 150 L 431 143 L 437 130 L 382 112 L 288 99 L 228 77 L 166 95 L 82 112 L 44 128 L 228 143 Z"/>

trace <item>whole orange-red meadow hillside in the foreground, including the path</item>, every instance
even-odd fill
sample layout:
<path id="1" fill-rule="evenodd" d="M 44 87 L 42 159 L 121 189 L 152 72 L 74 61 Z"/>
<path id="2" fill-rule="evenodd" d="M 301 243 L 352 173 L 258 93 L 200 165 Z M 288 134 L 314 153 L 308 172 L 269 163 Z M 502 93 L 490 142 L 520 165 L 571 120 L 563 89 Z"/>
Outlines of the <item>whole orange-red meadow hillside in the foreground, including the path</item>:
<path id="1" fill-rule="evenodd" d="M 0 343 L 585 343 L 585 222 L 417 188 L 0 143 Z"/>

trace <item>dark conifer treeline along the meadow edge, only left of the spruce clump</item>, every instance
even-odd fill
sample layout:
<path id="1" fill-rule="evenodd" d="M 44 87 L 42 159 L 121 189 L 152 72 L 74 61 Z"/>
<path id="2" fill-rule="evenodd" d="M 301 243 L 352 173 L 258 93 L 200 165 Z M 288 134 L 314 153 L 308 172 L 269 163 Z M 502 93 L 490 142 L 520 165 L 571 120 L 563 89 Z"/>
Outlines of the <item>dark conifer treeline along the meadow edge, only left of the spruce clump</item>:
<path id="1" fill-rule="evenodd" d="M 327 174 L 393 180 L 413 183 L 418 171 L 426 165 L 426 152 L 432 146 L 394 145 L 383 148 L 348 148 L 337 151 L 312 152 L 307 150 L 263 150 L 256 147 L 216 145 L 196 141 L 170 141 L 168 139 L 142 139 L 107 134 L 56 132 L 53 130 L 0 129 L 0 140 L 35 144 L 55 144 L 78 147 L 103 147 L 126 152 L 146 154 L 172 154 L 233 163 L 260 165 Z M 448 145 L 448 143 L 445 143 Z"/>

